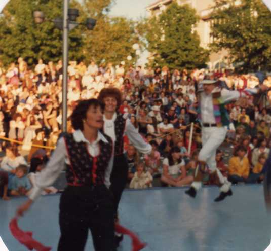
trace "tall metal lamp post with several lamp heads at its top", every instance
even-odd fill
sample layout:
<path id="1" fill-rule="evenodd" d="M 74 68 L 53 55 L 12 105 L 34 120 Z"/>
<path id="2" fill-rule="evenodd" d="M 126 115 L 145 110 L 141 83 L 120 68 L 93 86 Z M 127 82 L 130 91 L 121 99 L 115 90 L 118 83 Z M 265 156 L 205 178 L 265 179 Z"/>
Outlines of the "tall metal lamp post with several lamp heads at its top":
<path id="1" fill-rule="evenodd" d="M 63 18 L 57 17 L 52 20 L 58 29 L 63 30 L 63 79 L 62 79 L 62 132 L 67 131 L 67 87 L 68 87 L 68 33 L 79 24 L 86 25 L 89 30 L 93 30 L 96 20 L 87 18 L 85 23 L 77 23 L 79 16 L 78 9 L 69 9 L 69 0 L 63 1 Z M 34 22 L 42 23 L 45 21 L 45 15 L 41 11 L 34 11 Z"/>

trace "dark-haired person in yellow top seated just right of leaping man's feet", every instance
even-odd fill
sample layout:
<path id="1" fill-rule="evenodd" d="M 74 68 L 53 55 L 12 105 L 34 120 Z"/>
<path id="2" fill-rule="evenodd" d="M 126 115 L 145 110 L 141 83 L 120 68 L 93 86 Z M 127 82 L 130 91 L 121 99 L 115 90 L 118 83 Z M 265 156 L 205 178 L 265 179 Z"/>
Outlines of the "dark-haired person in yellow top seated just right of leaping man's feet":
<path id="1" fill-rule="evenodd" d="M 247 150 L 244 146 L 236 149 L 237 156 L 231 157 L 228 163 L 228 181 L 233 184 L 246 182 L 249 177 L 249 160 L 245 156 Z"/>

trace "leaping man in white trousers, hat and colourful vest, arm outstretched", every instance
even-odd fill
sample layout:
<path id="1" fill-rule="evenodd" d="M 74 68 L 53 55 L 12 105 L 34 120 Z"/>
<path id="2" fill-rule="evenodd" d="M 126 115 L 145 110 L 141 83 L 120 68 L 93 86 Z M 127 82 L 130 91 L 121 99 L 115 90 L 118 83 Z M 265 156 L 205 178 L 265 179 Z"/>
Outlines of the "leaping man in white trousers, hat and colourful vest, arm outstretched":
<path id="1" fill-rule="evenodd" d="M 196 197 L 197 191 L 202 186 L 207 164 L 211 171 L 210 178 L 220 187 L 220 194 L 214 200 L 217 202 L 233 194 L 230 189 L 231 183 L 217 169 L 215 160 L 216 150 L 226 137 L 225 126 L 230 122 L 225 104 L 240 97 L 257 94 L 260 90 L 265 91 L 267 87 L 261 85 L 260 89 L 229 91 L 221 89 L 217 80 L 203 80 L 200 84 L 203 88 L 198 93 L 198 117 L 202 123 L 202 149 L 198 157 L 199 165 L 195 171 L 194 182 L 185 193 L 193 198 Z"/>

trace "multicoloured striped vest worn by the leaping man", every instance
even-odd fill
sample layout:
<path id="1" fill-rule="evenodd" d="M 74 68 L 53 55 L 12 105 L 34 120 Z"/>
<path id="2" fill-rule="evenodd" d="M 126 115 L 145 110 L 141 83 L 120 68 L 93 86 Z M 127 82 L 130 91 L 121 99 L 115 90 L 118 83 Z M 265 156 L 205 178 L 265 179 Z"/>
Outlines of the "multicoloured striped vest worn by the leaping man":
<path id="1" fill-rule="evenodd" d="M 198 119 L 201 121 L 201 93 L 198 94 Z M 223 100 L 221 98 L 221 90 L 219 92 L 212 93 L 213 98 L 213 111 L 214 111 L 214 117 L 215 117 L 215 123 L 218 127 L 221 126 L 228 126 L 229 121 L 229 115 L 227 112 L 227 109 L 225 107 L 225 103 L 223 103 Z"/>

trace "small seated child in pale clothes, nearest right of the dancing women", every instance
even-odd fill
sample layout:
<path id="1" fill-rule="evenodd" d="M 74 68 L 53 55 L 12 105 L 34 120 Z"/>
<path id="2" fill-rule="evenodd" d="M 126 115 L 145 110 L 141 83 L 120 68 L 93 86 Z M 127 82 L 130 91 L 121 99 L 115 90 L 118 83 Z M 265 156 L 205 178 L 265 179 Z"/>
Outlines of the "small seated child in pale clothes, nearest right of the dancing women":
<path id="1" fill-rule="evenodd" d="M 152 187 L 152 176 L 148 171 L 145 171 L 144 162 L 139 162 L 136 166 L 136 172 L 130 183 L 130 188 L 149 188 Z"/>

